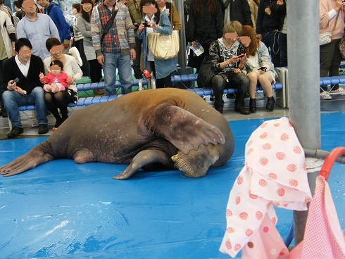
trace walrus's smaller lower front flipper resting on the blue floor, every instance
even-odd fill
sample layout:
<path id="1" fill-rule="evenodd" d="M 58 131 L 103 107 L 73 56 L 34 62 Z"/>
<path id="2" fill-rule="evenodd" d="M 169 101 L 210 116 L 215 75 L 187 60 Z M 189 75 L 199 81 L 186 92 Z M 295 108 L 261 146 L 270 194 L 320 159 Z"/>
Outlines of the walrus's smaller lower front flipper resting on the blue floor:
<path id="1" fill-rule="evenodd" d="M 144 150 L 137 153 L 134 156 L 132 162 L 125 171 L 121 172 L 120 175 L 115 175 L 113 179 L 124 180 L 130 178 L 134 172 L 137 172 L 139 168 L 144 167 L 145 165 L 151 165 L 153 163 L 161 163 L 161 164 L 168 164 L 170 162 L 170 158 L 160 150 Z"/>

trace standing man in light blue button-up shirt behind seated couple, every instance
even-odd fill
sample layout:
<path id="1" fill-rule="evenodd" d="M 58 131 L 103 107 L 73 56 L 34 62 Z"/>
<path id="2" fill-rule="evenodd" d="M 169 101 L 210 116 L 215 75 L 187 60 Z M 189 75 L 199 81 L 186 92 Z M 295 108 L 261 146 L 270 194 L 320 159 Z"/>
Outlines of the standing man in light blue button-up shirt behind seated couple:
<path id="1" fill-rule="evenodd" d="M 29 39 L 32 44 L 32 54 L 44 61 L 51 56 L 46 49 L 46 39 L 52 37 L 60 39 L 58 29 L 48 15 L 36 12 L 34 0 L 18 1 L 25 16 L 17 25 L 17 37 Z"/>

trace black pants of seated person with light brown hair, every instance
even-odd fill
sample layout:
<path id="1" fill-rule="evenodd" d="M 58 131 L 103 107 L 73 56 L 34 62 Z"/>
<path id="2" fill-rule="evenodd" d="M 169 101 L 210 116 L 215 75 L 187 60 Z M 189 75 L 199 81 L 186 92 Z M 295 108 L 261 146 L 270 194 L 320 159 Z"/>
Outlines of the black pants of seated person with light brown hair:
<path id="1" fill-rule="evenodd" d="M 212 77 L 215 108 L 218 109 L 224 106 L 222 96 L 224 94 L 225 87 L 237 89 L 234 105 L 236 108 L 244 107 L 244 98 L 246 97 L 246 93 L 249 91 L 249 78 L 242 73 L 229 73 L 227 78 L 229 82 L 226 82 L 222 75 L 215 75 Z"/>

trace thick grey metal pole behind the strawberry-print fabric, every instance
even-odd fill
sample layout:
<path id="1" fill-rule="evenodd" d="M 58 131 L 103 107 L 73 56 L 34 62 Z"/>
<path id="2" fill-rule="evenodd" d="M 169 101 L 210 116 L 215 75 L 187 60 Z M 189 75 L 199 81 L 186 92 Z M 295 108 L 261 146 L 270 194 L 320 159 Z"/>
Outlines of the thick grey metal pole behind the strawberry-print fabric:
<path id="1" fill-rule="evenodd" d="M 303 148 L 320 149 L 319 1 L 287 1 L 289 116 Z M 313 194 L 318 172 L 308 174 Z M 295 245 L 303 240 L 308 211 L 294 211 Z"/>

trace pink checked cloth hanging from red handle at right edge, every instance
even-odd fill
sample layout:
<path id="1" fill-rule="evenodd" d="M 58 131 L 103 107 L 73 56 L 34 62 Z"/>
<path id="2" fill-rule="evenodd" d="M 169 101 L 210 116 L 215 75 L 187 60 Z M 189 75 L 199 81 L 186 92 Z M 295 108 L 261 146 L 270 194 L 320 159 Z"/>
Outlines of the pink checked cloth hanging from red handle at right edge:
<path id="1" fill-rule="evenodd" d="M 304 239 L 290 253 L 291 259 L 344 259 L 345 241 L 330 187 L 324 177 L 316 179 L 313 201 L 309 206 Z"/>

